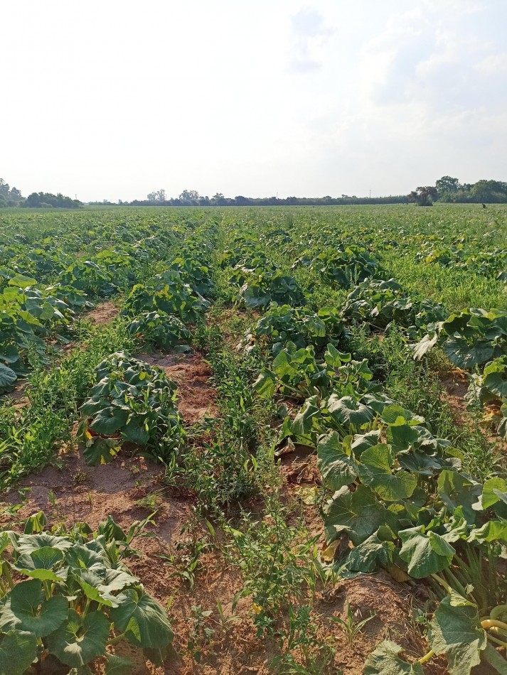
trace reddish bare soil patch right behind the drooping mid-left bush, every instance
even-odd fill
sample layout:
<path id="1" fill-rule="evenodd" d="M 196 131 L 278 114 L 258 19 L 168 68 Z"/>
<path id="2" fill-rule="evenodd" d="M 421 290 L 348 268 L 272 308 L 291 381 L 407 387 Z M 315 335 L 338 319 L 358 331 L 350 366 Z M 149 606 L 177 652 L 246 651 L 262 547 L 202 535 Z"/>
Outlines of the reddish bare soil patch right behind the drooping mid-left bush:
<path id="1" fill-rule="evenodd" d="M 193 424 L 205 416 L 216 416 L 217 392 L 211 386 L 212 373 L 201 352 L 191 354 L 154 352 L 139 354 L 137 358 L 149 365 L 158 366 L 166 372 L 169 379 L 176 382 L 178 409 L 186 423 Z"/>

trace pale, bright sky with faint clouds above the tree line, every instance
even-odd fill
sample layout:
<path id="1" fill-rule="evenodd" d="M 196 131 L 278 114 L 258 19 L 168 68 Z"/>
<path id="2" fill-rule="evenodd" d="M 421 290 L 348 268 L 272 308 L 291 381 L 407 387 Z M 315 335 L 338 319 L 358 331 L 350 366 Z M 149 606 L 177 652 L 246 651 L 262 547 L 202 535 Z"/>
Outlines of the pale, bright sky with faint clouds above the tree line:
<path id="1" fill-rule="evenodd" d="M 4 0 L 0 177 L 83 201 L 507 180 L 505 0 Z"/>

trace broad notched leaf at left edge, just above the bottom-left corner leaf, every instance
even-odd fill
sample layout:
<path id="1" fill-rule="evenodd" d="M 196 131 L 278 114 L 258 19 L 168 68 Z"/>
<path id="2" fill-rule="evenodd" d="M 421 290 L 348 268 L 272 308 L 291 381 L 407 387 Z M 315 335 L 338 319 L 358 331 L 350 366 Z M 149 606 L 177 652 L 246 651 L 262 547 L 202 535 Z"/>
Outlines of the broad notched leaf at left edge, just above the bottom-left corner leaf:
<path id="1" fill-rule="evenodd" d="M 3 601 L 0 628 L 26 630 L 36 637 L 45 637 L 62 625 L 67 611 L 68 600 L 63 595 L 46 600 L 41 581 L 22 581 Z"/>

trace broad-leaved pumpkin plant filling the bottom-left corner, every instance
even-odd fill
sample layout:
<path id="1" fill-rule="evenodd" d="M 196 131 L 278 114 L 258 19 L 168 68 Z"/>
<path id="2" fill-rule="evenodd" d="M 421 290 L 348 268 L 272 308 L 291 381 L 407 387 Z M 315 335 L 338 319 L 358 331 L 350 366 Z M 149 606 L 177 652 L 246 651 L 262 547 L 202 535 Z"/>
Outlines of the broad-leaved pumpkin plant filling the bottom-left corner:
<path id="1" fill-rule="evenodd" d="M 111 651 L 123 640 L 155 664 L 166 659 L 169 618 L 123 562 L 135 555 L 132 541 L 147 522 L 124 532 L 109 517 L 95 532 L 85 523 L 45 531 L 39 512 L 23 534 L 0 533 L 1 673 L 23 675 L 43 663 L 51 672 L 85 674 L 99 658 L 106 673 L 120 662 L 131 672 L 134 664 Z"/>

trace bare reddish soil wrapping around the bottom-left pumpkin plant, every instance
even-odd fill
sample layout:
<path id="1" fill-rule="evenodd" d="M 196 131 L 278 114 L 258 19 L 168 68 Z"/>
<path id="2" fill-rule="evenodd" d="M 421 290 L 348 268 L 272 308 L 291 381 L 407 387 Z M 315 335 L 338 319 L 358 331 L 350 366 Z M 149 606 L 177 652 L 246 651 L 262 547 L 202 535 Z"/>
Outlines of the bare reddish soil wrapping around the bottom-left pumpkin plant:
<path id="1" fill-rule="evenodd" d="M 237 568 L 229 567 L 217 549 L 203 552 L 196 583 L 190 589 L 188 583 L 175 575 L 176 570 L 185 570 L 181 558 L 192 536 L 183 526 L 193 521 L 193 500 L 174 495 L 164 487 L 163 470 L 160 465 L 146 462 L 143 458 L 119 456 L 112 463 L 88 467 L 82 454 L 61 455 L 62 468 L 48 467 L 32 475 L 20 487 L 28 487 L 26 502 L 16 514 L 16 522 L 43 510 L 48 519 L 48 529 L 58 523 L 69 527 L 76 521 L 84 521 L 96 528 L 99 522 L 112 514 L 114 520 L 128 530 L 134 520 L 143 519 L 151 509 L 137 502 L 151 492 L 158 496 L 158 512 L 154 517 L 156 527 L 147 530 L 156 537 L 139 538 L 134 548 L 140 557 L 129 558 L 126 563 L 139 576 L 146 590 L 165 607 L 171 602 L 171 622 L 176 635 L 174 647 L 176 656 L 164 668 L 155 668 L 144 663 L 142 654 L 134 652 L 127 644 L 117 647 L 118 654 L 128 655 L 136 664 L 136 675 L 174 674 L 191 675 L 196 672 L 213 674 L 257 673 L 266 675 L 269 671 L 263 663 L 269 655 L 264 641 L 255 638 L 255 629 L 248 611 L 250 600 L 242 599 L 235 608 L 240 620 L 233 627 L 223 630 L 217 611 L 220 599 L 226 616 L 232 614 L 235 593 L 242 587 L 242 578 Z M 10 504 L 19 503 L 18 495 L 7 495 Z M 7 522 L 4 515 L 3 527 L 16 527 L 16 522 Z M 196 526 L 197 539 L 203 539 L 205 531 Z M 190 550 L 190 549 L 188 549 Z M 169 556 L 176 556 L 176 566 L 166 564 Z M 164 556 L 166 556 L 164 558 Z M 191 608 L 201 605 L 203 610 L 213 610 L 213 616 L 206 621 L 213 628 L 213 644 L 203 646 L 202 666 L 196 666 L 188 652 L 188 639 L 194 619 Z M 274 653 L 270 658 L 274 657 Z M 103 664 L 95 664 L 94 672 L 103 673 Z"/>

